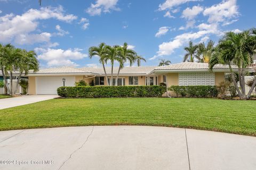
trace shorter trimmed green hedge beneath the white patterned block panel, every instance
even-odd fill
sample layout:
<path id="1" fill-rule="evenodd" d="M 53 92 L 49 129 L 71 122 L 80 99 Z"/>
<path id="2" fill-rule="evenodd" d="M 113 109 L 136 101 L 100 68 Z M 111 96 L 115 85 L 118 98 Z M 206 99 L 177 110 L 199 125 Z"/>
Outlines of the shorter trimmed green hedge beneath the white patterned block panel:
<path id="1" fill-rule="evenodd" d="M 177 97 L 217 97 L 219 92 L 216 86 L 171 86 L 168 90 L 173 91 Z"/>

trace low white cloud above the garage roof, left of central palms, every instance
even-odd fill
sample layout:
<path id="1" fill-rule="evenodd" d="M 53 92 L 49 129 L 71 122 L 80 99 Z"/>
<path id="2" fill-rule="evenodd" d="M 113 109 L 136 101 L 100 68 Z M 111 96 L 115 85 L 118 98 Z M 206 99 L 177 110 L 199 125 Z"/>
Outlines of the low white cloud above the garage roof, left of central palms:
<path id="1" fill-rule="evenodd" d="M 71 60 L 81 60 L 87 57 L 87 54 L 81 53 L 81 49 L 52 49 L 52 48 L 35 48 L 35 52 L 39 53 L 38 59 L 47 62 L 47 66 L 71 65 L 78 66 Z"/>

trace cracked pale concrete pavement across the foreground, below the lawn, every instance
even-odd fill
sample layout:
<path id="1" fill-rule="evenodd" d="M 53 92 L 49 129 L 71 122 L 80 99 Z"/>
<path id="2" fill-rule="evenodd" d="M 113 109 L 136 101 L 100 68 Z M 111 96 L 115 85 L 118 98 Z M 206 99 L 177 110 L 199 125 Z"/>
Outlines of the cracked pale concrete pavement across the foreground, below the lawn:
<path id="1" fill-rule="evenodd" d="M 255 137 L 154 126 L 0 132 L 0 169 L 249 170 L 255 151 Z"/>

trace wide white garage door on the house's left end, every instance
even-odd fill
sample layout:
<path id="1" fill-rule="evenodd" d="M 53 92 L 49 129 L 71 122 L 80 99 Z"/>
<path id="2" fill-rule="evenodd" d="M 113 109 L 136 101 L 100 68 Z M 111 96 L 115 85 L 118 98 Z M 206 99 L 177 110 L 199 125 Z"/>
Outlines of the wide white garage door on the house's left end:
<path id="1" fill-rule="evenodd" d="M 36 94 L 50 95 L 57 94 L 57 88 L 63 86 L 62 79 L 65 78 L 65 86 L 75 86 L 75 77 L 36 77 Z"/>

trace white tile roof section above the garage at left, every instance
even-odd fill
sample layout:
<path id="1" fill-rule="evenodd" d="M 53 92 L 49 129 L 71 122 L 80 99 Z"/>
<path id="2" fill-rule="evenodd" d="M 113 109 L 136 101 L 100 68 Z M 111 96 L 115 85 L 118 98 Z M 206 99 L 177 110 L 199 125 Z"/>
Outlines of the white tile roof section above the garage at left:
<path id="1" fill-rule="evenodd" d="M 92 72 L 87 71 L 85 69 L 77 69 L 71 66 L 62 66 L 62 67 L 54 67 L 48 69 L 39 69 L 37 72 L 33 72 L 33 70 L 29 70 L 28 74 L 52 74 L 52 73 L 85 73 L 90 74 Z"/>

